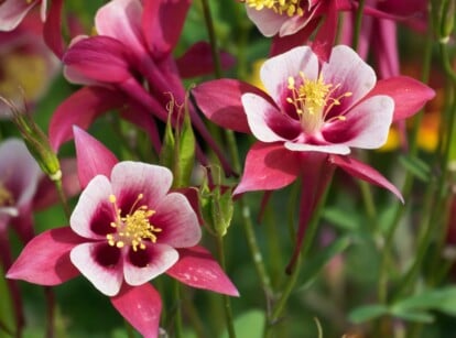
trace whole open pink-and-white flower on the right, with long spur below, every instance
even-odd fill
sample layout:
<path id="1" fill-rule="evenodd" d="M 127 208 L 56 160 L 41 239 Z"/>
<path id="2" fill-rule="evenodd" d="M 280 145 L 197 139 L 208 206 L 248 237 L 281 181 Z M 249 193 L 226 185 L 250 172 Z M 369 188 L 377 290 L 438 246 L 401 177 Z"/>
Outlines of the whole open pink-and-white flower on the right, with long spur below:
<path id="1" fill-rule="evenodd" d="M 336 166 L 402 199 L 380 173 L 347 155 L 351 148 L 381 146 L 391 122 L 416 112 L 434 91 L 403 76 L 377 83 L 372 68 L 344 45 L 334 47 L 323 65 L 307 46 L 272 57 L 263 64 L 261 79 L 268 94 L 220 79 L 202 84 L 193 96 L 210 120 L 258 140 L 247 154 L 235 195 L 279 189 L 302 177 L 292 266 L 313 208 Z"/>

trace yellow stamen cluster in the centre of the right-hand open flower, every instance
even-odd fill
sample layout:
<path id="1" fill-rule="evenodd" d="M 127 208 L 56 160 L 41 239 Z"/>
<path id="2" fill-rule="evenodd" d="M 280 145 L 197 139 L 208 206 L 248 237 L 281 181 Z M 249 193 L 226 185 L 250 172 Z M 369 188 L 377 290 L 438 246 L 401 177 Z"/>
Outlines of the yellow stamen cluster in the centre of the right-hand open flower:
<path id="1" fill-rule="evenodd" d="M 329 120 L 325 120 L 327 113 L 334 106 L 339 106 L 344 97 L 352 94 L 347 91 L 337 98 L 332 97 L 334 91 L 339 87 L 333 84 L 325 84 L 322 74 L 317 79 L 306 79 L 304 74 L 300 72 L 301 85 L 296 87 L 295 78 L 290 76 L 287 88 L 291 96 L 286 101 L 294 106 L 301 120 L 301 126 L 305 133 L 313 134 L 321 130 L 325 122 L 332 120 L 345 121 L 345 116 L 337 116 Z"/>

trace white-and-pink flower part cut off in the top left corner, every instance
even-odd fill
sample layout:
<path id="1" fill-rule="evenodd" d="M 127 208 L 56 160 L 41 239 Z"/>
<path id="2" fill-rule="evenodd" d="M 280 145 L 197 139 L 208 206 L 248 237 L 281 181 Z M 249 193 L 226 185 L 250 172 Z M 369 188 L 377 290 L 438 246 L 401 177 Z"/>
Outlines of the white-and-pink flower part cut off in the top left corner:
<path id="1" fill-rule="evenodd" d="M 41 4 L 41 19 L 44 21 L 47 0 L 3 0 L 0 2 L 0 31 L 14 30 L 37 4 Z"/>

